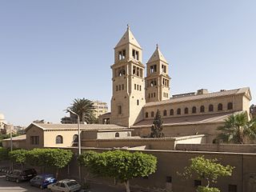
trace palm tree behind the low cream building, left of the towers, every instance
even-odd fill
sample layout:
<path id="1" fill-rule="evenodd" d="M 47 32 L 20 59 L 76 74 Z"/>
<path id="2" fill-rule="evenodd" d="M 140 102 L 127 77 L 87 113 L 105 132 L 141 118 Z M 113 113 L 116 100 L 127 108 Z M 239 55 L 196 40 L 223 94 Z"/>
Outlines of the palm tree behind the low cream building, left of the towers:
<path id="1" fill-rule="evenodd" d="M 86 98 L 75 98 L 68 110 L 74 111 L 79 115 L 80 122 L 94 123 L 94 102 Z"/>

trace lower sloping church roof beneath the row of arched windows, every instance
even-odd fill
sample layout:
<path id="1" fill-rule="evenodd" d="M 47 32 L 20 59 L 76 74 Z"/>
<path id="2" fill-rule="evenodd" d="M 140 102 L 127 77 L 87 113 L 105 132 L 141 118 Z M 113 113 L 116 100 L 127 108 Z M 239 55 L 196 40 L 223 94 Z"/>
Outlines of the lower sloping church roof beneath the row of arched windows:
<path id="1" fill-rule="evenodd" d="M 225 119 L 233 113 L 215 113 L 215 114 L 200 114 L 200 115 L 190 115 L 174 118 L 162 118 L 164 126 L 182 126 L 182 125 L 191 125 L 191 124 L 203 124 L 210 122 L 224 122 Z M 142 126 L 151 126 L 153 119 L 145 119 L 141 122 L 136 123 L 131 128 L 142 127 Z"/>

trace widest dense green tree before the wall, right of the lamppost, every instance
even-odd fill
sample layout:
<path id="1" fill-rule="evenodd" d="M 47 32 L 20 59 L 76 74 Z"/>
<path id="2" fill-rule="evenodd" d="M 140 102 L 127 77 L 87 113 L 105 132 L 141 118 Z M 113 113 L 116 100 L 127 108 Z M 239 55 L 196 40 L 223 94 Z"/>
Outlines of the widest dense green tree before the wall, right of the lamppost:
<path id="1" fill-rule="evenodd" d="M 157 168 L 157 158 L 153 155 L 122 150 L 107 151 L 102 154 L 88 151 L 81 154 L 78 161 L 93 174 L 115 178 L 124 183 L 126 192 L 130 192 L 130 179 L 147 177 Z"/>

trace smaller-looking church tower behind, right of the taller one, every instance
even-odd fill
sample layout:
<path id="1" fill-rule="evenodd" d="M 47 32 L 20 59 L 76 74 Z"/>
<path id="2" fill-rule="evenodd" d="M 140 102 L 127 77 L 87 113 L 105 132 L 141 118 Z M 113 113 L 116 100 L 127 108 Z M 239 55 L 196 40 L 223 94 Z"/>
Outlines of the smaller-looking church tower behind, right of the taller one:
<path id="1" fill-rule="evenodd" d="M 168 63 L 157 45 L 146 63 L 146 102 L 159 102 L 170 98 Z"/>

